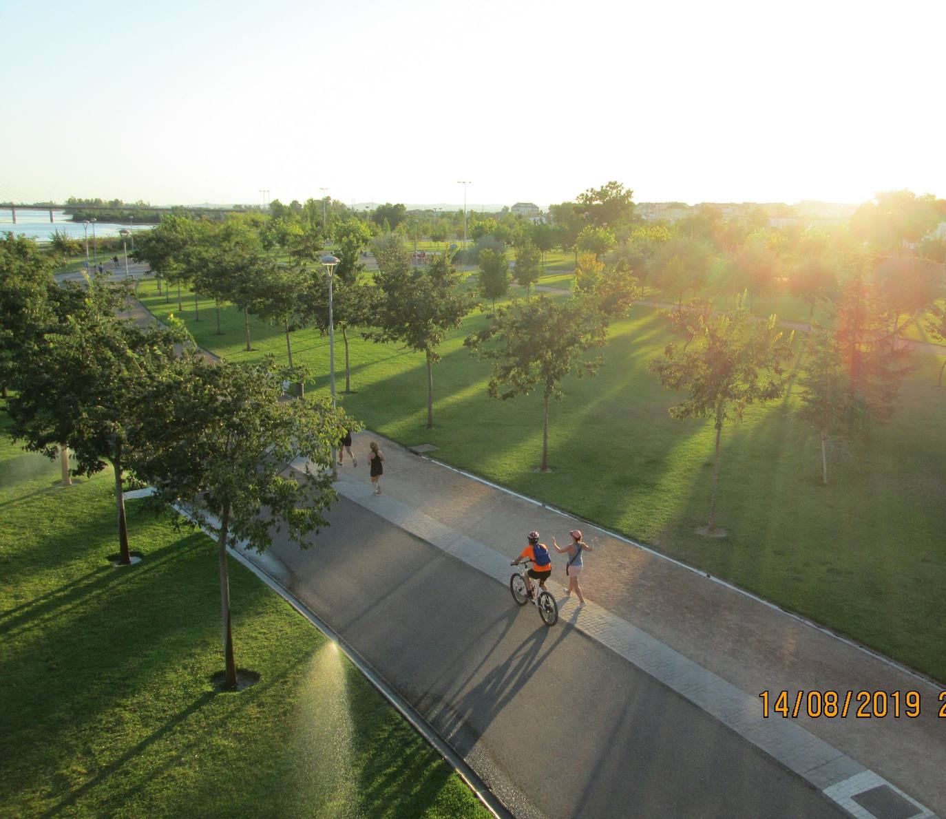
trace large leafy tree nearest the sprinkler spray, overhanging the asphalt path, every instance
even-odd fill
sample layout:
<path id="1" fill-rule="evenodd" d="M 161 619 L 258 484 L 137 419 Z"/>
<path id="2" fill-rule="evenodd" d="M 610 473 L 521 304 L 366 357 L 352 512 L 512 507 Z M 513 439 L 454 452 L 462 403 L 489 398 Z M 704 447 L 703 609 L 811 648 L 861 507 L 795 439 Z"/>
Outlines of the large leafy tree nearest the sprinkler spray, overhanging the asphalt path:
<path id="1" fill-rule="evenodd" d="M 174 362 L 142 400 L 156 434 L 135 455 L 135 473 L 159 502 L 188 509 L 217 536 L 224 687 L 238 685 L 230 621 L 228 546 L 257 551 L 285 528 L 307 548 L 306 535 L 327 526 L 335 500 L 332 447 L 357 422 L 328 399 L 280 402 L 284 373 L 272 358 L 257 364 L 207 363 L 196 355 Z M 282 473 L 301 458 L 302 471 Z"/>

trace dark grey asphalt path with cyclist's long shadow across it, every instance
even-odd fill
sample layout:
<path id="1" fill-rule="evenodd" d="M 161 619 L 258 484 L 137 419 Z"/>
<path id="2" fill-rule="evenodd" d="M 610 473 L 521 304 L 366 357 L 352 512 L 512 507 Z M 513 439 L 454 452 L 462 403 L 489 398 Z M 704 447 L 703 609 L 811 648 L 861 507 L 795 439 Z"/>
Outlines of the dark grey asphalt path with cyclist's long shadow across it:
<path id="1" fill-rule="evenodd" d="M 508 587 L 345 498 L 329 518 L 307 550 L 277 535 L 284 584 L 517 816 L 845 815 L 568 622 L 546 627 Z"/>

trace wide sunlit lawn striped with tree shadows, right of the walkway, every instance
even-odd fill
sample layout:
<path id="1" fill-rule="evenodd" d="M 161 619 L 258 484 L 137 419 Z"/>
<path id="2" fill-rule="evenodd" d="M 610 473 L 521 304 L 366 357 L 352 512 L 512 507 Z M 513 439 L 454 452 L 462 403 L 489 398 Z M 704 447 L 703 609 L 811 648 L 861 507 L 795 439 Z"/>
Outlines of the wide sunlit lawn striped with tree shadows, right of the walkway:
<path id="1" fill-rule="evenodd" d="M 154 313 L 176 309 L 149 297 L 150 288 L 143 298 Z M 224 334 L 216 336 L 209 303 L 198 323 L 184 306 L 202 346 L 236 360 L 267 352 L 285 360 L 278 328 L 254 322 L 254 351 L 246 353 L 234 309 L 224 310 Z M 469 316 L 441 347 L 433 429 L 425 428 L 424 359 L 394 345 L 352 338 L 358 392 L 343 395 L 342 404 L 402 444 L 435 444 L 445 462 L 637 537 L 946 680 L 941 358 L 916 357 L 890 424 L 864 441 L 832 442 L 827 488 L 819 483 L 817 436 L 795 415 L 794 380 L 780 403 L 750 409 L 723 435 L 718 513 L 729 536 L 707 540 L 694 529 L 708 512 L 713 430 L 667 414 L 674 394 L 647 369 L 670 340 L 656 310 L 634 307 L 612 328 L 600 374 L 565 382 L 566 398 L 551 412 L 551 474 L 532 470 L 541 453 L 540 396 L 487 398 L 489 366 L 463 347 L 486 321 L 482 313 Z M 327 391 L 327 338 L 292 336 L 293 356 L 318 374 L 308 389 Z M 341 390 L 341 334 L 336 338 Z"/>

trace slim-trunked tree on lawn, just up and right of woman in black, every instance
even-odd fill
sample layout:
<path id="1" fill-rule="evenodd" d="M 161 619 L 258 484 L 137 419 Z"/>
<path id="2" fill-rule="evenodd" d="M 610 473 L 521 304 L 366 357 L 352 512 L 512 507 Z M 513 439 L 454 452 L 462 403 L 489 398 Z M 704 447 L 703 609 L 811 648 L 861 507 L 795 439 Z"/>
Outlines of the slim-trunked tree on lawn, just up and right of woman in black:
<path id="1" fill-rule="evenodd" d="M 433 373 L 437 347 L 447 330 L 460 325 L 473 307 L 469 294 L 458 292 L 463 275 L 446 253 L 427 268 L 413 268 L 403 245 L 379 246 L 376 288 L 366 315 L 372 325 L 362 335 L 373 341 L 400 341 L 427 360 L 427 427 L 433 427 Z"/>

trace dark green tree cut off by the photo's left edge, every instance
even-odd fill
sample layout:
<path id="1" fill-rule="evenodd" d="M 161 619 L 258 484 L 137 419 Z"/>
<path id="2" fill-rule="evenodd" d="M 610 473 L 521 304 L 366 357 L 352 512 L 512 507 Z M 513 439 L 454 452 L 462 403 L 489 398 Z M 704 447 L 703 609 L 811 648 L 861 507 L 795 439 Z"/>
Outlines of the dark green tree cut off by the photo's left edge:
<path id="1" fill-rule="evenodd" d="M 44 320 L 47 294 L 55 287 L 48 258 L 24 235 L 0 238 L 0 389 L 16 374 L 16 361 Z"/>

